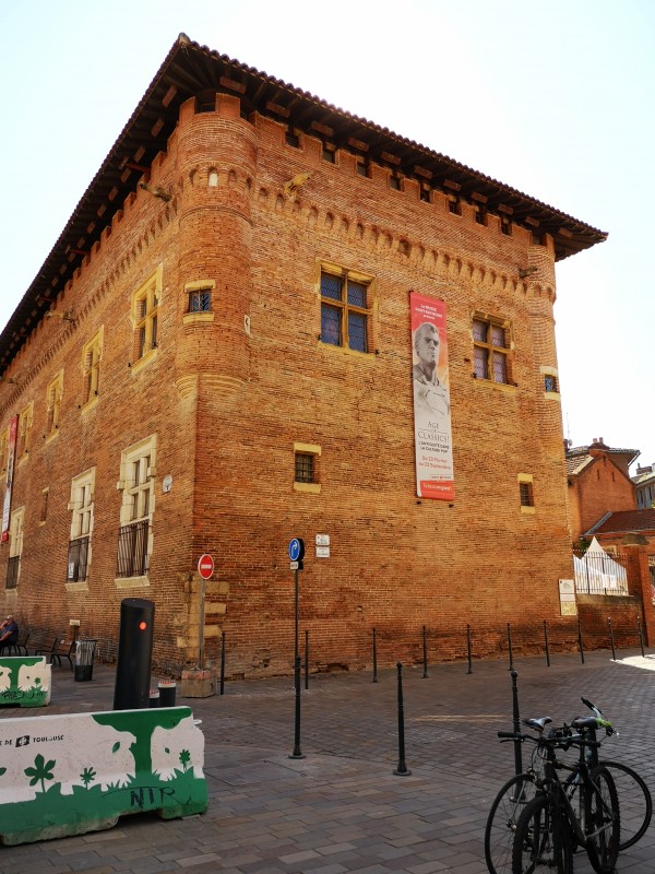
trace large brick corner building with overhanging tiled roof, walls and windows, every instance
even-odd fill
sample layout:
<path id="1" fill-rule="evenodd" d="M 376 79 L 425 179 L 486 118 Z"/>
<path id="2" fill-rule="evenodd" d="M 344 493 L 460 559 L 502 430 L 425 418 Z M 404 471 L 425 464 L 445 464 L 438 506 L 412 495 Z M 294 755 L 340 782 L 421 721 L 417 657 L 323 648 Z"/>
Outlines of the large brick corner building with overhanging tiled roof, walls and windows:
<path id="1" fill-rule="evenodd" d="M 146 598 L 193 663 L 210 553 L 207 659 L 286 672 L 299 536 L 314 670 L 570 634 L 555 264 L 604 238 L 180 35 L 0 336 L 4 609 L 110 657 Z"/>

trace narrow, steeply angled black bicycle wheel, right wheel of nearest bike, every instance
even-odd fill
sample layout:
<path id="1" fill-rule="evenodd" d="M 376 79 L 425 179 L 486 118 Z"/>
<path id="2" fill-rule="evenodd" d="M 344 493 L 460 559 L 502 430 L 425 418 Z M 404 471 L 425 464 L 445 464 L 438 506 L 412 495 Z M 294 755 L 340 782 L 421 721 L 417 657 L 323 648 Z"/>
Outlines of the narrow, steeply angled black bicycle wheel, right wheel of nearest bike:
<path id="1" fill-rule="evenodd" d="M 591 775 L 592 786 L 584 791 L 586 851 L 594 871 L 598 874 L 614 874 L 619 858 L 621 828 L 619 819 L 619 799 L 611 773 L 602 765 Z"/>

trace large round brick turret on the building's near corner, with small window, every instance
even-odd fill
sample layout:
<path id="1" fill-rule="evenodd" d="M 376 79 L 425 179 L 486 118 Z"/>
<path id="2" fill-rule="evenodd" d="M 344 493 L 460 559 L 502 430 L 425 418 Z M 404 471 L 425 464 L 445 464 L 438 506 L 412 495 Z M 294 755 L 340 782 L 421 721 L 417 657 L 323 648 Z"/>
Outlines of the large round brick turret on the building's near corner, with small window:
<path id="1" fill-rule="evenodd" d="M 236 97 L 217 94 L 213 111 L 198 109 L 195 99 L 181 106 L 177 131 L 182 331 L 176 382 L 182 394 L 227 399 L 249 376 L 255 131 Z M 209 293 L 207 310 L 190 311 L 194 292 Z"/>

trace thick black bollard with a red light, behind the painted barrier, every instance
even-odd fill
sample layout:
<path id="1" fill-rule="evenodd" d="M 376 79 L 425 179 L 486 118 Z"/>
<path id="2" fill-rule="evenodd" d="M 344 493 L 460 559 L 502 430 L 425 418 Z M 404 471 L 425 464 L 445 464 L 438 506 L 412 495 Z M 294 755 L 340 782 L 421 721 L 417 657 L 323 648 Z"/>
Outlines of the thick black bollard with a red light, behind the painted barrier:
<path id="1" fill-rule="evenodd" d="M 150 706 L 154 623 L 155 605 L 152 601 L 142 598 L 121 601 L 115 710 L 141 710 Z"/>

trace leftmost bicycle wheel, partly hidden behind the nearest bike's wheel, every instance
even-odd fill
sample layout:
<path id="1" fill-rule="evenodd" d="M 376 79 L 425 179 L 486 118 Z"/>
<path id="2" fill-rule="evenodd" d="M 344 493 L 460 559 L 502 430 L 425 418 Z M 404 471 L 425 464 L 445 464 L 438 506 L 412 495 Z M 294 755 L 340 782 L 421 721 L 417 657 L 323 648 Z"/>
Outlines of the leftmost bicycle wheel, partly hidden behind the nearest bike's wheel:
<path id="1" fill-rule="evenodd" d="M 493 799 L 485 827 L 485 860 L 490 874 L 512 874 L 516 823 L 535 792 L 534 777 L 520 773 L 508 780 Z"/>

